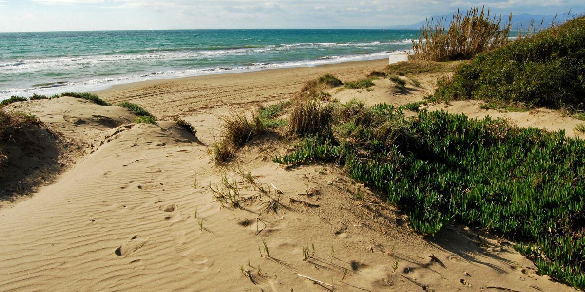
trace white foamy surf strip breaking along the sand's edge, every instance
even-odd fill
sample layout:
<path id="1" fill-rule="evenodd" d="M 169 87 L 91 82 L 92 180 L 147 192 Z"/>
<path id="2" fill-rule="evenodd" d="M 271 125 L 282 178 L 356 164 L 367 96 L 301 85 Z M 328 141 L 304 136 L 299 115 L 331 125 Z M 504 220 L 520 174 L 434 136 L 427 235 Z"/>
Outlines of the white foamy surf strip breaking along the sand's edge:
<path id="1" fill-rule="evenodd" d="M 271 68 L 287 68 L 287 67 L 309 67 L 315 65 L 332 64 L 337 62 L 347 61 L 362 61 L 362 60 L 376 60 L 381 58 L 387 58 L 390 56 L 392 60 L 402 61 L 406 60 L 406 55 L 403 51 L 384 51 L 380 53 L 370 54 L 355 54 L 355 55 L 333 55 L 323 57 L 319 60 L 301 60 L 301 61 L 289 61 L 280 63 L 253 63 L 245 66 L 218 66 L 211 68 L 198 68 L 198 69 L 186 69 L 177 71 L 157 71 L 150 74 L 136 74 L 136 75 L 125 75 L 119 77 L 105 77 L 105 78 L 94 78 L 86 81 L 78 82 L 47 82 L 45 84 L 36 84 L 30 88 L 11 88 L 11 89 L 0 89 L 0 99 L 9 98 L 11 95 L 30 96 L 33 93 L 51 95 L 64 91 L 95 91 L 98 89 L 104 89 L 108 86 L 115 84 L 124 84 L 130 82 L 144 81 L 150 79 L 160 78 L 176 78 L 176 77 L 187 77 L 207 74 L 218 74 L 227 72 L 245 72 L 245 71 L 257 71 L 261 69 Z"/>

